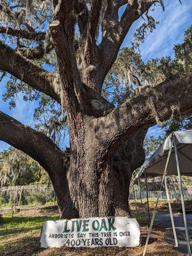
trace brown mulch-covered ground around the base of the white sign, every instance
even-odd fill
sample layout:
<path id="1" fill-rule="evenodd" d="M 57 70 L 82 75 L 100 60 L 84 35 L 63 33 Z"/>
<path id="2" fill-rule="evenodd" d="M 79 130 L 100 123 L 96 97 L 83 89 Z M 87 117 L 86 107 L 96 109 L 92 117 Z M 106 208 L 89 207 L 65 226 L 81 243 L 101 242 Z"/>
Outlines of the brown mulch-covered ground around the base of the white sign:
<path id="1" fill-rule="evenodd" d="M 141 246 L 135 248 L 118 248 L 118 247 L 100 247 L 100 248 L 40 248 L 40 232 L 31 232 L 20 236 L 7 239 L 7 243 L 14 241 L 12 246 L 8 246 L 1 256 L 94 256 L 94 255 L 122 255 L 122 256 L 142 256 L 144 243 L 147 236 L 147 228 L 141 227 Z M 181 252 L 175 250 L 173 246 L 166 243 L 166 232 L 153 230 L 152 237 L 147 247 L 147 256 L 182 256 Z"/>

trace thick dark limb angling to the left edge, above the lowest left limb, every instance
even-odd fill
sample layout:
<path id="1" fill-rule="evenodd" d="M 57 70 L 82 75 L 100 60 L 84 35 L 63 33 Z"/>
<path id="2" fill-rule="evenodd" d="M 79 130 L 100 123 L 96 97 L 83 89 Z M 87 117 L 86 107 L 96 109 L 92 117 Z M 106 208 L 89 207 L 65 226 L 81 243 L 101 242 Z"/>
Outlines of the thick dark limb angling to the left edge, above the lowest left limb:
<path id="1" fill-rule="evenodd" d="M 38 67 L 1 42 L 0 68 L 61 103 L 60 95 L 54 88 L 55 75 Z"/>

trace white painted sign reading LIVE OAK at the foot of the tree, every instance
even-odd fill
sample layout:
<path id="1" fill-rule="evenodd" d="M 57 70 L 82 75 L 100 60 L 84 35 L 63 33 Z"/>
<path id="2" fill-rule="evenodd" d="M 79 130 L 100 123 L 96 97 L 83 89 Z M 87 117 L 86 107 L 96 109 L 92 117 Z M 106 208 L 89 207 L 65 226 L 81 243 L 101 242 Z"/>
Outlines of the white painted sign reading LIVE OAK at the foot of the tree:
<path id="1" fill-rule="evenodd" d="M 127 217 L 46 221 L 41 247 L 134 247 L 140 244 L 140 227 Z"/>

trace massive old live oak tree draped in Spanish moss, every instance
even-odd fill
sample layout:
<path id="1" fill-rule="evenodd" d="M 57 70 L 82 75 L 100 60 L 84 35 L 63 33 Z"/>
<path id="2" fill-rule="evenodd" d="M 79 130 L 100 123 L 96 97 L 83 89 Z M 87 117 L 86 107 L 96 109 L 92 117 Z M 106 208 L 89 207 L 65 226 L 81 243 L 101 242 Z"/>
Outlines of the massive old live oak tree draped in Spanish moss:
<path id="1" fill-rule="evenodd" d="M 128 215 L 129 180 L 144 162 L 147 129 L 192 111 L 190 72 L 159 84 L 140 83 L 137 72 L 129 74 L 138 89 L 132 86 L 122 104 L 103 97 L 103 81 L 133 22 L 145 15 L 137 46 L 146 29 L 154 28 L 149 9 L 155 4 L 163 6 L 160 0 L 1 1 L 0 69 L 3 77 L 10 74 L 8 88 L 34 99 L 40 95 L 51 111 L 61 105 L 62 117 L 55 111 L 55 122 L 59 129 L 67 122 L 70 149 L 58 147 L 52 129 L 47 136 L 41 124 L 34 130 L 3 112 L 0 140 L 45 168 L 61 218 Z M 57 67 L 51 71 L 54 54 Z M 41 106 L 36 115 L 40 112 Z M 50 124 L 54 120 L 43 127 Z"/>

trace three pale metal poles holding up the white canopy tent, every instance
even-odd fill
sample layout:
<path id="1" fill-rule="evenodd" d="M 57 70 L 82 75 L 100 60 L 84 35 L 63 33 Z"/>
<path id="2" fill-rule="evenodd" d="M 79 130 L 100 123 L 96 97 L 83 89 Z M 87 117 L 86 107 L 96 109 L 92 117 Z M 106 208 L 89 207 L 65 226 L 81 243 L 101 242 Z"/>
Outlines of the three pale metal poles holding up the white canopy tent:
<path id="1" fill-rule="evenodd" d="M 159 196 L 160 196 L 160 193 L 161 193 L 161 188 L 163 186 L 163 183 L 165 183 L 166 198 L 167 198 L 167 201 L 168 201 L 168 207 L 169 207 L 169 211 L 170 211 L 170 218 L 171 218 L 171 221 L 172 221 L 172 228 L 173 228 L 173 232 L 174 232 L 175 246 L 178 246 L 177 234 L 176 234 L 176 231 L 175 231 L 175 224 L 174 224 L 174 216 L 173 216 L 173 213 L 172 213 L 172 207 L 171 207 L 171 204 L 170 204 L 170 197 L 169 197 L 169 194 L 168 194 L 168 187 L 167 187 L 167 184 L 166 184 L 167 167 L 168 167 L 168 163 L 169 163 L 169 160 L 170 160 L 170 156 L 172 154 L 173 145 L 174 145 L 174 149 L 175 149 L 174 150 L 175 151 L 174 152 L 175 153 L 175 161 L 176 161 L 176 164 L 177 164 L 177 175 L 178 175 L 178 179 L 179 179 L 179 191 L 180 191 L 180 195 L 181 195 L 182 213 L 183 213 L 183 218 L 184 218 L 184 228 L 185 228 L 185 232 L 186 232 L 186 241 L 188 243 L 188 256 L 191 256 L 191 248 L 190 248 L 190 241 L 189 241 L 189 234 L 188 234 L 188 224 L 187 224 L 187 219 L 186 219 L 186 210 L 185 210 L 185 205 L 184 205 L 184 195 L 183 195 L 183 189 L 182 189 L 181 172 L 180 172 L 180 167 L 179 167 L 179 157 L 178 157 L 178 151 L 177 151 L 177 144 L 176 144 L 176 140 L 175 140 L 175 134 L 173 134 L 173 136 L 172 136 L 170 149 L 168 150 L 168 157 L 166 159 L 165 170 L 163 172 L 163 177 L 162 177 L 162 180 L 161 180 L 159 195 L 158 195 L 158 198 L 156 200 L 154 211 L 152 213 L 152 219 L 151 219 L 151 223 L 150 223 L 150 226 L 149 226 L 147 239 L 146 239 L 146 242 L 145 242 L 145 248 L 144 248 L 143 256 L 145 256 L 145 253 L 146 253 L 146 250 L 147 250 L 147 245 L 149 243 L 149 238 L 151 237 L 151 230 L 152 230 L 152 226 L 153 226 L 154 219 L 155 219 L 155 216 L 156 216 L 156 210 L 157 210 L 157 207 L 158 207 Z"/>

